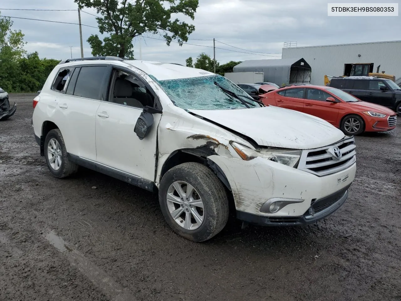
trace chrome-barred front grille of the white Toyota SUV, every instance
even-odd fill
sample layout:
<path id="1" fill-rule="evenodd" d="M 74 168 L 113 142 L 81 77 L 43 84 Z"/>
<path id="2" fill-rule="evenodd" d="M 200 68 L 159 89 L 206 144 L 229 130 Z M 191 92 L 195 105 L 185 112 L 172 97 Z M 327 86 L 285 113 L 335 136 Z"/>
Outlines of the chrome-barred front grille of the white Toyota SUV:
<path id="1" fill-rule="evenodd" d="M 337 146 L 341 158 L 332 155 L 332 149 Z M 315 149 L 303 150 L 298 169 L 318 176 L 330 175 L 342 171 L 356 162 L 354 137 L 346 137 L 339 142 Z"/>

